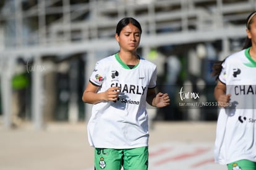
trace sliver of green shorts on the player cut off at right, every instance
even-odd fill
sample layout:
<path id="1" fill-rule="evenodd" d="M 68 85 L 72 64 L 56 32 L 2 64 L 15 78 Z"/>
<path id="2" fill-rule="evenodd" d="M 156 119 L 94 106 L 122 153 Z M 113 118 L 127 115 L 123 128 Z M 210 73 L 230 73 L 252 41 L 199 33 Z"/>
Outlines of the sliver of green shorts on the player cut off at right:
<path id="1" fill-rule="evenodd" d="M 234 161 L 233 163 L 228 164 L 228 170 L 255 170 L 256 163 L 253 161 L 249 161 L 246 159 L 242 159 L 239 161 Z"/>

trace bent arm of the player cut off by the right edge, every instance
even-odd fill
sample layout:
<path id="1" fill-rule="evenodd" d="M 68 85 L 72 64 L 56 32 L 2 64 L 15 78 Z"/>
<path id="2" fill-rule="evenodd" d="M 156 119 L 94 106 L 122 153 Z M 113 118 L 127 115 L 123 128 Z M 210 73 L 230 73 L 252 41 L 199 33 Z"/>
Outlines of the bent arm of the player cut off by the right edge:
<path id="1" fill-rule="evenodd" d="M 215 100 L 218 101 L 218 105 L 221 107 L 228 106 L 230 101 L 230 94 L 226 95 L 226 84 L 218 81 L 214 90 Z"/>

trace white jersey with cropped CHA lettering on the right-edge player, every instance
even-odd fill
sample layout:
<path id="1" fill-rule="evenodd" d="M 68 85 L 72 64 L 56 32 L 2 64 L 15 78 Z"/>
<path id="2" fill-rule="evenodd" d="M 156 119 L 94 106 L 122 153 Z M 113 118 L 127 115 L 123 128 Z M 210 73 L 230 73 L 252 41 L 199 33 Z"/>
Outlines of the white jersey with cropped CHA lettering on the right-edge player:
<path id="1" fill-rule="evenodd" d="M 220 164 L 256 162 L 256 62 L 249 49 L 227 57 L 219 76 L 231 94 L 231 106 L 220 109 L 216 129 L 215 161 Z"/>

